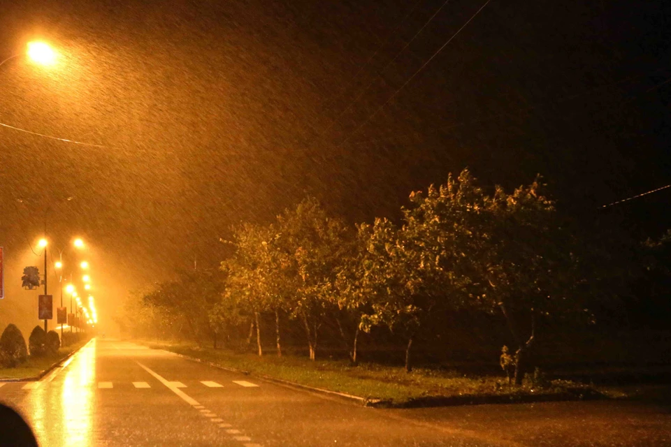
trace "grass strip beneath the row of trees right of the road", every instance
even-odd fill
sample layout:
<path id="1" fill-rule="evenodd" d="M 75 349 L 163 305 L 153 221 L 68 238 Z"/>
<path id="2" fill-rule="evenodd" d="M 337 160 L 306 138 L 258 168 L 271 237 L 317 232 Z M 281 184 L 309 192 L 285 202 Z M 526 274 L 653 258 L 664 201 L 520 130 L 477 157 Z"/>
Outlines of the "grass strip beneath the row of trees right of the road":
<path id="1" fill-rule="evenodd" d="M 154 342 L 150 346 L 252 374 L 264 374 L 304 386 L 391 401 L 394 404 L 423 397 L 547 396 L 566 393 L 568 389 L 586 388 L 569 381 L 554 381 L 545 387 L 515 388 L 507 386 L 504 378 L 463 376 L 453 371 L 418 368 L 407 374 L 401 367 L 372 363 L 351 367 L 346 361 L 340 360 L 310 362 L 294 356 L 277 358 L 272 354 L 259 358 L 253 354 L 237 354 L 189 344 Z"/>

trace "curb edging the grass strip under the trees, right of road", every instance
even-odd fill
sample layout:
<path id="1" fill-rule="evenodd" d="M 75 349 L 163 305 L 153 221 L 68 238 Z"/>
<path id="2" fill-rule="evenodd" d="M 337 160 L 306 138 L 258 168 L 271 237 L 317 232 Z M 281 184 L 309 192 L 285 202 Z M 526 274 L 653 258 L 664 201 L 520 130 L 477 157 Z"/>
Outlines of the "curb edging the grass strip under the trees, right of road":
<path id="1" fill-rule="evenodd" d="M 426 408 L 435 406 L 464 406 L 464 405 L 482 405 L 482 404 L 531 404 L 535 402 L 568 402 L 568 401 L 580 401 L 580 400 L 602 400 L 608 398 L 607 396 L 602 395 L 597 391 L 591 390 L 589 388 L 575 388 L 575 389 L 568 389 L 565 391 L 565 393 L 557 393 L 549 395 L 493 395 L 493 396 L 472 395 L 472 396 L 452 396 L 452 397 L 427 396 L 427 397 L 417 397 L 415 399 L 407 400 L 406 402 L 393 402 L 390 400 L 369 399 L 366 397 L 350 395 L 347 393 L 339 393 L 338 391 L 325 390 L 324 388 L 317 388 L 314 386 L 303 385 L 301 383 L 287 381 L 284 379 L 277 379 L 276 377 L 267 376 L 266 374 L 254 374 L 252 372 L 245 371 L 243 369 L 226 367 L 223 365 L 219 365 L 217 363 L 208 362 L 207 360 L 201 360 L 200 358 L 185 356 L 184 354 L 168 351 L 167 349 L 157 349 L 157 350 L 164 351 L 166 353 L 171 353 L 174 356 L 185 358 L 186 360 L 191 360 L 192 362 L 199 362 L 203 363 L 203 365 L 223 369 L 224 371 L 235 372 L 237 374 L 244 374 L 245 376 L 252 376 L 257 379 L 261 379 L 263 381 L 267 381 L 270 383 L 277 383 L 283 386 L 288 386 L 290 388 L 310 391 L 312 393 L 340 397 L 343 400 L 349 400 L 350 402 L 356 402 L 357 404 L 363 406 L 379 409 L 384 408 L 409 409 L 409 408 Z"/>

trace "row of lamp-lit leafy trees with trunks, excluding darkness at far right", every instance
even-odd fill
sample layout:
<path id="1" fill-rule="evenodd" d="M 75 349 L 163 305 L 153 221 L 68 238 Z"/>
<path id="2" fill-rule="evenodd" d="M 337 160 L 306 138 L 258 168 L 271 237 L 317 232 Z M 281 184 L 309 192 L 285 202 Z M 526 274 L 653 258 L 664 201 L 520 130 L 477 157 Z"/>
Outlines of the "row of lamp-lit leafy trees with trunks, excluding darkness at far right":
<path id="1" fill-rule="evenodd" d="M 312 360 L 329 320 L 352 346 L 351 359 L 359 331 L 382 326 L 406 337 L 410 371 L 413 339 L 431 337 L 446 314 L 500 312 L 515 344 L 501 367 L 521 383 L 540 323 L 589 315 L 583 298 L 591 284 L 612 276 L 595 268 L 603 244 L 586 244 L 558 216 L 540 177 L 488 192 L 465 169 L 412 192 L 401 211 L 399 224 L 379 218 L 349 228 L 305 198 L 266 226 L 240 224 L 222 241 L 234 254 L 219 271 L 158 284 L 141 298 L 136 320 L 157 335 L 210 335 L 215 343 L 217 335 L 251 339 L 256 326 L 261 355 L 259 316 L 282 312 L 303 326 Z"/>

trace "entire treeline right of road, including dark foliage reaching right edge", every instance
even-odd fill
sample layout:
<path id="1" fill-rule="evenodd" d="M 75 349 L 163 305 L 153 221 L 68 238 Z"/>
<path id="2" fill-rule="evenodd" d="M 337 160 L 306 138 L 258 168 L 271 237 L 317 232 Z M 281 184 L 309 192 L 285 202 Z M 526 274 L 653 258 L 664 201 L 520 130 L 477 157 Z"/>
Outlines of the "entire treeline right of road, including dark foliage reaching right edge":
<path id="1" fill-rule="evenodd" d="M 616 227 L 578 224 L 540 177 L 486 190 L 463 170 L 411 193 L 401 211 L 399 223 L 348 226 L 305 198 L 268 225 L 236 226 L 222 240 L 234 254 L 221 268 L 139 293 L 122 329 L 215 348 L 255 341 L 259 356 L 272 340 L 282 356 L 300 328 L 311 360 L 340 346 L 352 365 L 362 337 L 402 341 L 410 372 L 418 341 L 440 345 L 469 328 L 498 339 L 501 366 L 520 384 L 542 358 L 537 340 L 548 328 L 630 324 L 642 297 L 670 290 L 671 233 L 641 243 Z"/>

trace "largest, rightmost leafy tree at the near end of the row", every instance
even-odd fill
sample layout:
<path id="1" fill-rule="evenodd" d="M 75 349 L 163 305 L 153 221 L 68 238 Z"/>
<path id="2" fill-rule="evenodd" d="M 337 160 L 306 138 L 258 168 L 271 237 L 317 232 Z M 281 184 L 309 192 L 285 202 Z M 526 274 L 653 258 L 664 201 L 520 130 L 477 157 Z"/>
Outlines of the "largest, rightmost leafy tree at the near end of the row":
<path id="1" fill-rule="evenodd" d="M 419 268 L 440 279 L 433 284 L 450 284 L 470 307 L 503 314 L 517 345 L 517 385 L 539 318 L 581 313 L 577 291 L 587 282 L 580 244 L 543 186 L 538 177 L 512 193 L 496 186 L 488 195 L 463 170 L 439 188 L 413 193 L 405 211 Z M 519 323 L 523 317 L 527 324 Z"/>

